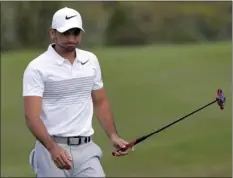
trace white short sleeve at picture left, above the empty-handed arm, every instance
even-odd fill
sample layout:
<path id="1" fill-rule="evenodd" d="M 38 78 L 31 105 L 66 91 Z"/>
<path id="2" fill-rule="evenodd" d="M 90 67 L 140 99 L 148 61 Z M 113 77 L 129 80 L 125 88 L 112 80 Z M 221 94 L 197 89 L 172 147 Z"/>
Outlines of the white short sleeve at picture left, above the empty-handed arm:
<path id="1" fill-rule="evenodd" d="M 44 81 L 40 73 L 27 67 L 23 75 L 23 96 L 43 96 Z"/>

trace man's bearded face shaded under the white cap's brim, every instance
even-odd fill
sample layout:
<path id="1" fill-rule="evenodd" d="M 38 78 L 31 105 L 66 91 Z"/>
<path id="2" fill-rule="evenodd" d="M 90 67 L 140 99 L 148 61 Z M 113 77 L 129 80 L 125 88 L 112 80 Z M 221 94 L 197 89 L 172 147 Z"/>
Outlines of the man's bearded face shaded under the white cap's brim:
<path id="1" fill-rule="evenodd" d="M 60 33 L 52 29 L 51 38 L 55 44 L 63 50 L 63 52 L 73 52 L 81 41 L 81 30 L 78 28 L 72 28 L 64 33 Z"/>

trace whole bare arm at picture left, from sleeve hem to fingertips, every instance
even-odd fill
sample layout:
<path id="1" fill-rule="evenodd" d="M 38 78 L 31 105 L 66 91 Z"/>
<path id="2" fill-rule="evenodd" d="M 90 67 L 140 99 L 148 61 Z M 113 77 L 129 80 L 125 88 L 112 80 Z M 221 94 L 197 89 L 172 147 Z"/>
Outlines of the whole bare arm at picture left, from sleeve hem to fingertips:
<path id="1" fill-rule="evenodd" d="M 31 76 L 28 76 L 29 80 L 35 81 L 39 79 L 31 79 Z M 30 86 L 29 84 L 24 84 L 26 87 Z M 31 88 L 31 87 L 30 87 Z M 38 87 L 35 87 L 36 89 Z M 33 88 L 32 88 L 32 91 Z M 24 96 L 24 108 L 25 108 L 25 119 L 28 128 L 31 130 L 33 135 L 39 140 L 45 148 L 50 152 L 52 159 L 56 166 L 60 169 L 71 169 L 72 162 L 71 157 L 68 152 L 59 146 L 47 132 L 47 129 L 40 119 L 42 105 L 42 97 L 40 96 Z"/>

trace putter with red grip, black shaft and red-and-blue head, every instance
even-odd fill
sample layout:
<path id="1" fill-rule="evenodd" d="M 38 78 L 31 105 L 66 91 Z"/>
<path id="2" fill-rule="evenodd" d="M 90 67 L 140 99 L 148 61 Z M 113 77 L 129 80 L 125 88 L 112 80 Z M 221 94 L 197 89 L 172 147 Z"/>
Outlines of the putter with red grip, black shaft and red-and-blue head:
<path id="1" fill-rule="evenodd" d="M 226 102 L 226 98 L 225 98 L 225 96 L 224 96 L 224 94 L 223 94 L 223 91 L 222 91 L 221 89 L 218 89 L 218 90 L 217 90 L 217 96 L 216 96 L 216 99 L 215 99 L 214 101 L 211 101 L 210 103 L 208 103 L 208 104 L 206 104 L 206 105 L 200 107 L 199 109 L 197 109 L 197 110 L 195 110 L 195 111 L 193 111 L 193 112 L 191 112 L 191 113 L 189 113 L 189 114 L 187 114 L 187 115 L 185 115 L 185 116 L 183 116 L 183 117 L 181 117 L 181 118 L 179 118 L 179 119 L 177 119 L 177 120 L 175 120 L 175 121 L 173 121 L 173 122 L 167 124 L 166 126 L 160 128 L 160 129 L 158 129 L 158 130 L 156 130 L 156 131 L 154 131 L 154 132 L 151 132 L 151 133 L 149 133 L 149 134 L 147 134 L 147 135 L 144 135 L 144 136 L 142 136 L 142 137 L 139 137 L 139 138 L 137 138 L 137 139 L 131 141 L 130 143 L 128 143 L 128 144 L 125 146 L 125 148 L 120 148 L 120 149 L 118 149 L 116 152 L 119 152 L 119 151 L 126 151 L 127 149 L 133 147 L 134 145 L 136 145 L 136 144 L 138 144 L 138 143 L 140 143 L 140 142 L 146 140 L 146 139 L 149 138 L 150 136 L 152 136 L 152 135 L 154 135 L 154 134 L 156 134 L 156 133 L 161 132 L 162 130 L 165 130 L 165 129 L 171 127 L 171 126 L 174 125 L 175 123 L 177 123 L 177 122 L 179 122 L 179 121 L 181 121 L 181 120 L 183 120 L 183 119 L 185 119 L 185 118 L 191 116 L 192 114 L 194 114 L 194 113 L 196 113 L 196 112 L 198 112 L 198 111 L 200 111 L 200 110 L 202 110 L 202 109 L 204 109 L 204 108 L 206 108 L 206 107 L 208 107 L 208 106 L 210 106 L 210 105 L 212 105 L 212 104 L 214 104 L 214 103 L 216 103 L 216 102 L 217 102 L 218 106 L 220 107 L 220 109 L 223 110 L 223 109 L 224 109 L 224 104 L 225 104 L 225 102 Z M 116 156 L 116 152 L 112 152 L 112 155 L 113 155 L 113 156 Z"/>

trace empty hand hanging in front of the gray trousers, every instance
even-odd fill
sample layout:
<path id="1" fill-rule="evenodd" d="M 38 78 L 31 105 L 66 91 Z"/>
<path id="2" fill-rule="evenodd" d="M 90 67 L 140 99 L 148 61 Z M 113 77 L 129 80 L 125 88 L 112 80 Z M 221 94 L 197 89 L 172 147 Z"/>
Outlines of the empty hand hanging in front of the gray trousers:
<path id="1" fill-rule="evenodd" d="M 54 144 L 54 146 L 48 151 L 52 156 L 52 160 L 59 169 L 71 169 L 72 158 L 64 148 L 62 148 L 58 144 Z"/>

